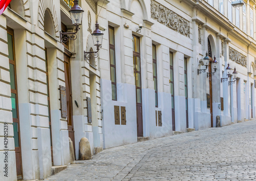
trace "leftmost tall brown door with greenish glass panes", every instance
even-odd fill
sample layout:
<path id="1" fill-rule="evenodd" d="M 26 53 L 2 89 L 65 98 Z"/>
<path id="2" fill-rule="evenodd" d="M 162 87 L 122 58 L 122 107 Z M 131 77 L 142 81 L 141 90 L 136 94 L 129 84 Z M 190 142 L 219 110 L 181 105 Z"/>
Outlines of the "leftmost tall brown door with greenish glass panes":
<path id="1" fill-rule="evenodd" d="M 11 85 L 11 102 L 12 102 L 12 120 L 13 120 L 13 138 L 15 145 L 15 157 L 16 157 L 16 172 L 17 179 L 23 178 L 22 173 L 22 150 L 20 147 L 20 130 L 19 130 L 19 113 L 18 113 L 18 92 L 17 92 L 17 75 L 16 75 L 16 60 L 14 50 L 14 34 L 13 30 L 7 28 L 7 41 L 8 41 L 8 53 L 9 53 L 9 65 L 10 65 L 10 85 Z"/>

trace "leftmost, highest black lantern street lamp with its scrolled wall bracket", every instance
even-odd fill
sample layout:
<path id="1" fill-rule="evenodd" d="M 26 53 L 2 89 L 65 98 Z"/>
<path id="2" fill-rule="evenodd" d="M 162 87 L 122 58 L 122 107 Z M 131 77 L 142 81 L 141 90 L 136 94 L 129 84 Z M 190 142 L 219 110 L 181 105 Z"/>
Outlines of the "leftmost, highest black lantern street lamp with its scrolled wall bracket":
<path id="1" fill-rule="evenodd" d="M 69 12 L 72 20 L 72 25 L 75 26 L 75 32 L 69 32 L 69 33 L 60 32 L 60 40 L 62 42 L 67 42 L 69 38 L 72 40 L 75 40 L 77 38 L 76 33 L 80 29 L 79 26 L 81 25 L 82 14 L 83 14 L 82 8 L 78 5 L 78 0 L 74 1 L 74 6 L 71 8 Z"/>

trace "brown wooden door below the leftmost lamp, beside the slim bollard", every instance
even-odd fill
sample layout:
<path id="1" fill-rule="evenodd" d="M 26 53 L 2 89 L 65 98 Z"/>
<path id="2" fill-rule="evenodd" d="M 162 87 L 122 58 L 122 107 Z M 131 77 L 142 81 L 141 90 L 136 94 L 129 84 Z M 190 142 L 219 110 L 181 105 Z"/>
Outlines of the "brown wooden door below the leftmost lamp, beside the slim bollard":
<path id="1" fill-rule="evenodd" d="M 67 120 L 69 138 L 73 142 L 75 152 L 75 131 L 73 125 L 73 109 L 72 109 L 72 91 L 71 91 L 71 74 L 70 74 L 70 56 L 64 54 L 64 69 L 65 69 L 65 83 L 66 83 L 66 95 L 67 95 Z"/>

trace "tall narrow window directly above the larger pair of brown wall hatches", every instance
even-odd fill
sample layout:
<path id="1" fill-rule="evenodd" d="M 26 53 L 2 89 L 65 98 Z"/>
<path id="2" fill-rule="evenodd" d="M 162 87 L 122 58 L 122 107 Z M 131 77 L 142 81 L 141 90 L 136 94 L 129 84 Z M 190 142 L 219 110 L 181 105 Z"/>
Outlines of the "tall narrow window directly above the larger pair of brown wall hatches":
<path id="1" fill-rule="evenodd" d="M 115 56 L 115 32 L 114 27 L 109 26 L 109 41 L 110 41 L 110 73 L 112 86 L 112 100 L 117 100 L 116 91 L 116 56 Z"/>

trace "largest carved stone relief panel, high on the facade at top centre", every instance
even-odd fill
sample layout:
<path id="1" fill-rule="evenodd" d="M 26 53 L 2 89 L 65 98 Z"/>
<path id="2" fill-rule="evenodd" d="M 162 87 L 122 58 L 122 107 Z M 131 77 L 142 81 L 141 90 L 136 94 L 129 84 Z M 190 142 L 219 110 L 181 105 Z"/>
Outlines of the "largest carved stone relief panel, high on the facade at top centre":
<path id="1" fill-rule="evenodd" d="M 151 17 L 162 25 L 190 37 L 189 21 L 154 0 L 151 0 Z"/>

